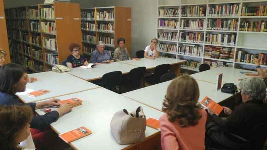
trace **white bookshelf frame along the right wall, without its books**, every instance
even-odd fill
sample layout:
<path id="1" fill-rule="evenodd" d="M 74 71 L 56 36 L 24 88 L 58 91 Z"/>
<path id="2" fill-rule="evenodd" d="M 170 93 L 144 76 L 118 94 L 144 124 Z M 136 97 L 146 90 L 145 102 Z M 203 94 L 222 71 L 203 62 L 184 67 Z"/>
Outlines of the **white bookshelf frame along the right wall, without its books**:
<path id="1" fill-rule="evenodd" d="M 238 8 L 238 15 L 236 16 L 208 16 L 208 7 L 212 5 L 225 5 L 225 4 L 239 4 Z M 172 56 L 176 56 L 176 59 L 184 58 L 184 59 L 191 59 L 195 61 L 199 61 L 204 63 L 204 60 L 211 60 L 211 61 L 220 61 L 220 62 L 228 62 L 233 63 L 233 68 L 238 68 L 239 66 L 242 68 L 253 68 L 255 64 L 245 63 L 245 62 L 236 62 L 237 59 L 237 51 L 244 50 L 246 52 L 250 52 L 253 54 L 256 53 L 267 53 L 267 32 L 248 32 L 248 31 L 239 31 L 239 27 L 242 21 L 258 21 L 264 20 L 267 21 L 267 16 L 241 16 L 241 10 L 244 6 L 259 6 L 260 4 L 267 5 L 267 0 L 158 0 L 158 9 L 162 8 L 178 8 L 179 9 L 179 17 L 159 17 L 157 12 L 157 33 L 158 32 L 177 32 L 178 39 L 175 41 L 170 40 L 162 40 L 159 39 L 159 43 L 166 43 L 166 44 L 176 44 L 177 45 L 177 52 L 179 46 L 184 44 L 196 45 L 196 46 L 203 46 L 202 48 L 202 56 L 192 56 L 192 55 L 184 55 L 179 53 L 173 52 L 160 52 Z M 203 17 L 181 17 L 181 8 L 187 6 L 205 6 L 206 7 L 206 16 Z M 157 9 L 157 11 L 158 11 Z M 159 19 L 164 20 L 176 20 L 177 21 L 177 28 L 159 28 L 158 21 Z M 203 19 L 203 29 L 180 29 L 181 19 Z M 237 30 L 236 31 L 225 31 L 225 30 L 207 30 L 207 21 L 208 19 L 236 19 L 238 20 L 237 23 Z M 194 43 L 194 42 L 179 42 L 179 33 L 180 32 L 204 32 L 204 39 L 203 43 Z M 221 33 L 221 34 L 235 34 L 236 41 L 235 45 L 218 45 L 218 44 L 206 44 L 206 35 L 209 33 Z M 157 35 L 156 35 L 157 36 Z M 220 46 L 225 48 L 234 48 L 234 59 L 233 60 L 225 60 L 225 59 L 215 59 L 215 58 L 206 58 L 204 56 L 204 48 L 205 46 Z M 261 65 L 262 67 L 267 68 L 265 65 Z M 183 69 L 188 69 L 192 71 L 197 71 L 196 69 L 181 67 Z M 254 67 L 255 69 L 255 67 Z"/>

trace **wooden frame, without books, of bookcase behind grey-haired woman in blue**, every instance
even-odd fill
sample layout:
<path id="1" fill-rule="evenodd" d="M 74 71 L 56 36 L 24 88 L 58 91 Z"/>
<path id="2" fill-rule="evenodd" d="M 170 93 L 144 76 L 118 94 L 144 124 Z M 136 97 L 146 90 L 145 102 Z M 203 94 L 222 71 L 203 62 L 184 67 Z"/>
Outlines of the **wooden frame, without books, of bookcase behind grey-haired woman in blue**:
<path id="1" fill-rule="evenodd" d="M 109 19 L 98 19 L 97 13 L 100 12 L 113 12 L 114 15 Z M 92 13 L 94 17 L 90 19 L 84 18 L 84 13 Z M 94 13 L 94 14 L 93 14 Z M 114 49 L 118 47 L 117 39 L 123 37 L 126 41 L 125 47 L 128 52 L 131 52 L 131 35 L 132 35 L 132 24 L 131 24 L 131 8 L 129 7 L 96 7 L 96 8 L 84 8 L 81 9 L 81 21 L 82 21 L 82 34 L 83 34 L 83 54 L 90 57 L 90 53 L 96 49 L 96 45 L 100 37 L 110 37 L 114 39 L 114 44 L 107 44 L 105 50 L 110 51 L 111 55 Z M 83 29 L 83 24 L 91 23 L 94 24 L 94 29 Z M 114 25 L 113 31 L 99 31 L 100 24 L 111 24 Z M 94 36 L 94 40 L 85 41 L 84 36 Z M 112 55 L 113 56 L 113 55 Z"/>

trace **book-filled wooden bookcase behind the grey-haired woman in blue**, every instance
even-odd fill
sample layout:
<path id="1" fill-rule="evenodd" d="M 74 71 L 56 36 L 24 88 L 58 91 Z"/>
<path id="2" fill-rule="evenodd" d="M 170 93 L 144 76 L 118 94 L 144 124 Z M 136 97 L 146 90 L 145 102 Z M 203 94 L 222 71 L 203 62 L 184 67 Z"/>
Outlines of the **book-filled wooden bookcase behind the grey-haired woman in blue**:
<path id="1" fill-rule="evenodd" d="M 104 17 L 106 16 L 106 17 Z M 129 7 L 95 7 L 81 9 L 81 31 L 83 36 L 83 54 L 90 58 L 96 50 L 98 41 L 106 43 L 105 50 L 113 56 L 118 47 L 117 38 L 123 37 L 125 47 L 131 52 L 131 8 Z"/>

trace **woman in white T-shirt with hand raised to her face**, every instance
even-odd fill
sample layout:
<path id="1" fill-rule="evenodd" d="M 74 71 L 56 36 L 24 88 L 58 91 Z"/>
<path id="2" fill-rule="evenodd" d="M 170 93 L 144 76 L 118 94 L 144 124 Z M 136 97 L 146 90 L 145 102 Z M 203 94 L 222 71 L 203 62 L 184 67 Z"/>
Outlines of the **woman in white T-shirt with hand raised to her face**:
<path id="1" fill-rule="evenodd" d="M 145 58 L 155 59 L 159 57 L 159 48 L 157 48 L 157 38 L 151 40 L 151 44 L 148 45 L 145 49 Z"/>

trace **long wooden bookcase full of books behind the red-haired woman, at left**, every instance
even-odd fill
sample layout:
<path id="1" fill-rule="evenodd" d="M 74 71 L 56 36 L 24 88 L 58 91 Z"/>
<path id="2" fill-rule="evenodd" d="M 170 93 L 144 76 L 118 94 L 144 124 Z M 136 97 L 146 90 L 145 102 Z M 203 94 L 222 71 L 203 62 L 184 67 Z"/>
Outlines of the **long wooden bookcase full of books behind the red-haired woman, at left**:
<path id="1" fill-rule="evenodd" d="M 7 11 L 13 61 L 30 72 L 51 70 L 71 54 L 72 42 L 82 44 L 79 4 L 54 2 Z"/>

